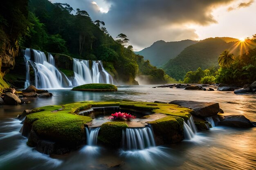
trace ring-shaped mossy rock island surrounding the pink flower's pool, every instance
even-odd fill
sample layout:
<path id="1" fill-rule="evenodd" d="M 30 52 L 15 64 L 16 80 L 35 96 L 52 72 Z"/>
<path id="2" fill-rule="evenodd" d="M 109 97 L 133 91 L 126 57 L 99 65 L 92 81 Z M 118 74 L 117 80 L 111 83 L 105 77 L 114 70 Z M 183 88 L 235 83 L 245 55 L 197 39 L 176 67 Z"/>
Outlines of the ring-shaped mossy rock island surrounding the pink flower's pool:
<path id="1" fill-rule="evenodd" d="M 212 110 L 212 107 L 216 107 L 216 103 L 204 105 L 202 109 Z M 132 121 L 109 119 L 111 113 L 119 111 L 136 114 L 137 118 Z M 25 110 L 19 119 L 26 117 L 21 131 L 23 136 L 28 137 L 28 146 L 35 147 L 45 154 L 62 155 L 88 145 L 89 129 L 99 127 L 95 140 L 98 141 L 97 145 L 107 148 L 121 148 L 124 144 L 122 141 L 125 141 L 124 131 L 130 129 L 139 131 L 141 128 L 149 127 L 154 133 L 153 139 L 156 145 L 177 143 L 185 138 L 188 132 L 186 126 L 194 124 L 193 117 L 197 119 L 195 125 L 198 130 L 209 129 L 211 124 L 208 125 L 209 122 L 205 121 L 205 117 L 196 116 L 199 111 L 200 108 L 193 110 L 169 103 L 84 101 Z M 216 119 L 220 117 L 225 120 L 225 117 L 217 114 L 218 110 Z M 97 117 L 104 118 L 105 121 L 101 119 L 97 124 L 95 123 Z M 235 121 L 238 124 L 238 119 Z M 240 121 L 244 124 L 247 120 L 240 119 Z M 196 132 L 196 128 L 194 130 Z"/>

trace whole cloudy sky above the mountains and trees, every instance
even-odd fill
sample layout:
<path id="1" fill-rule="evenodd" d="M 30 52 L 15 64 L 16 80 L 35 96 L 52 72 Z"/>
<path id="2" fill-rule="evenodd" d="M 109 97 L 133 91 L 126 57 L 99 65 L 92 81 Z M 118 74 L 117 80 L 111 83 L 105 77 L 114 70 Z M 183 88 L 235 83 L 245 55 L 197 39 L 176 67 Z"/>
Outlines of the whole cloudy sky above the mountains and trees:
<path id="1" fill-rule="evenodd" d="M 50 0 L 70 4 L 105 22 L 116 39 L 124 33 L 134 51 L 157 40 L 247 38 L 256 33 L 255 0 Z M 75 12 L 74 12 L 75 13 Z"/>

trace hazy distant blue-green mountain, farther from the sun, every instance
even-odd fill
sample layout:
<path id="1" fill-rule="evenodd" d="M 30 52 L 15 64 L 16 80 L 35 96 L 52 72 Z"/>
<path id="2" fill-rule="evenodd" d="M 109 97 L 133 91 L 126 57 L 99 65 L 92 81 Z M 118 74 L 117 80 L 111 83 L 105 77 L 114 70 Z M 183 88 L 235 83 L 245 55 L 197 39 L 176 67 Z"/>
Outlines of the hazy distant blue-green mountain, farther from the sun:
<path id="1" fill-rule="evenodd" d="M 151 46 L 135 52 L 136 54 L 143 55 L 144 59 L 149 60 L 150 64 L 154 66 L 161 66 L 166 64 L 168 60 L 176 57 L 187 46 L 197 43 L 193 40 L 182 40 L 176 42 L 165 42 L 159 40 L 154 42 Z"/>

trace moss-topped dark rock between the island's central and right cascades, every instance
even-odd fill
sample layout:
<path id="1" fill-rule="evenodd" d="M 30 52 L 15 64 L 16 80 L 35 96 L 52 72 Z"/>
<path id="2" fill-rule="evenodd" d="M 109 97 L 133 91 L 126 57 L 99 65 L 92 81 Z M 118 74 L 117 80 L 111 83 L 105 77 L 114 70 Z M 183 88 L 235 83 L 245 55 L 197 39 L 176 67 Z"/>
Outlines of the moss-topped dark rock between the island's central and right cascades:
<path id="1" fill-rule="evenodd" d="M 183 119 L 177 116 L 167 116 L 162 119 L 150 121 L 153 126 L 156 144 L 173 144 L 184 139 Z"/>

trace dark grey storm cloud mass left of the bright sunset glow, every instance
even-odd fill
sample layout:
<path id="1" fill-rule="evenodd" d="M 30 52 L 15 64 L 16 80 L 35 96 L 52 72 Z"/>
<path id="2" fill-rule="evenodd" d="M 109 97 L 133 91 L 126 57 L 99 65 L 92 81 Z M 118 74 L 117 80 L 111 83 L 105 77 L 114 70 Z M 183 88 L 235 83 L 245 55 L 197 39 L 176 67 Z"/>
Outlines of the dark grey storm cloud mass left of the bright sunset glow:
<path id="1" fill-rule="evenodd" d="M 90 0 L 54 1 L 66 2 L 74 9 L 88 11 L 92 20 L 105 22 L 114 38 L 124 33 L 132 45 L 146 47 L 157 40 L 198 38 L 195 30 L 185 25 L 217 23 L 211 15 L 213 9 L 235 0 L 104 0 L 111 4 L 108 13 L 99 12 L 99 7 L 102 7 L 99 0 L 92 0 L 98 1 L 99 6 Z"/>

